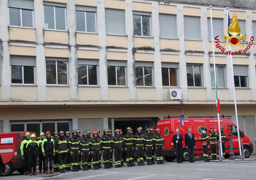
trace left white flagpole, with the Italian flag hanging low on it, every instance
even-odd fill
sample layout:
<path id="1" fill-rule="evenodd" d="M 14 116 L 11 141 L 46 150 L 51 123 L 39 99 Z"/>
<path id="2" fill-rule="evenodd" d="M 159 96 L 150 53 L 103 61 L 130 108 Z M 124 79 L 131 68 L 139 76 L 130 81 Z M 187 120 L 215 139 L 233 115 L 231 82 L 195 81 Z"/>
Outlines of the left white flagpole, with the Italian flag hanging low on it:
<path id="1" fill-rule="evenodd" d="M 213 58 L 213 68 L 214 68 L 214 81 L 215 81 L 215 88 L 216 87 L 216 84 L 218 84 L 217 82 L 217 73 L 216 73 L 216 66 L 215 66 L 215 53 L 214 53 L 214 41 L 213 41 L 213 27 L 212 27 L 212 5 L 210 5 L 210 18 L 211 18 L 211 35 L 212 35 L 212 58 Z M 219 97 L 219 91 L 217 89 L 217 95 Z M 216 107 L 218 105 L 218 99 L 217 99 L 217 96 L 216 96 Z M 217 112 L 218 114 L 218 127 L 219 127 L 219 140 L 220 140 L 220 143 L 222 143 L 222 140 L 221 140 L 221 132 L 220 132 L 220 120 L 219 120 L 219 113 Z M 223 159 L 223 154 L 222 154 L 222 145 L 220 145 L 220 151 L 219 152 L 219 159 L 222 160 Z"/>

